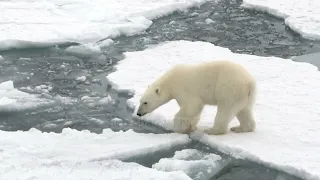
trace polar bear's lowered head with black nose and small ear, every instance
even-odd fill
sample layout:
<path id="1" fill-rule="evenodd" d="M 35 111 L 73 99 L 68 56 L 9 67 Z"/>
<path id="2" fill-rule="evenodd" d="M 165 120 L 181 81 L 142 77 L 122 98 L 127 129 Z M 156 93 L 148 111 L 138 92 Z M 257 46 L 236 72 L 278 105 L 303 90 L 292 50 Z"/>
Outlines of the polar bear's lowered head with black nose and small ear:
<path id="1" fill-rule="evenodd" d="M 167 103 L 170 100 L 167 90 L 158 84 L 151 85 L 144 92 L 140 98 L 140 105 L 138 107 L 137 115 L 144 116 L 151 113 L 161 105 Z"/>

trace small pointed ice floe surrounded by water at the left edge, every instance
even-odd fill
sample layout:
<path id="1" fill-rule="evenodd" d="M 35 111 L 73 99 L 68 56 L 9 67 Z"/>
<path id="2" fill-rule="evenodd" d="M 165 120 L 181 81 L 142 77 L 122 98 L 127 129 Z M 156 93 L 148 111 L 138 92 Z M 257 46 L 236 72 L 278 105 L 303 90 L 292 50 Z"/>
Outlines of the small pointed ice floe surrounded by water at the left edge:
<path id="1" fill-rule="evenodd" d="M 0 83 L 0 112 L 21 111 L 54 103 L 54 100 L 16 89 L 13 81 Z"/>

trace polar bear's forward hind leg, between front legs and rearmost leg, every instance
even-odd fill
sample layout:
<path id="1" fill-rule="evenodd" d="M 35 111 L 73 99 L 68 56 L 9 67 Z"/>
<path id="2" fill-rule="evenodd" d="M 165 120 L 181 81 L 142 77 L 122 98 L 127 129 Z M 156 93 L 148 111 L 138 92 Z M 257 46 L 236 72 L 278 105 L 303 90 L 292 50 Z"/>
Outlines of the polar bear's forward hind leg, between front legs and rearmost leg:
<path id="1" fill-rule="evenodd" d="M 218 106 L 213 127 L 204 130 L 204 132 L 212 135 L 226 134 L 228 131 L 228 125 L 233 118 L 234 110 L 232 108 Z"/>

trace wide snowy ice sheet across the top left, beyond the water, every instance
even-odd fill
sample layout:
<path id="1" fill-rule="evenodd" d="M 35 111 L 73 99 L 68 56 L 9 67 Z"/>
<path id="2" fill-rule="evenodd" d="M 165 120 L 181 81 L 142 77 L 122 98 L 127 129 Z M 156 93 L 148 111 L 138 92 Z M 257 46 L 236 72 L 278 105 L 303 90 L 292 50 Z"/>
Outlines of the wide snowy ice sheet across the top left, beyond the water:
<path id="1" fill-rule="evenodd" d="M 146 30 L 152 20 L 207 0 L 0 2 L 0 49 L 92 43 Z"/>

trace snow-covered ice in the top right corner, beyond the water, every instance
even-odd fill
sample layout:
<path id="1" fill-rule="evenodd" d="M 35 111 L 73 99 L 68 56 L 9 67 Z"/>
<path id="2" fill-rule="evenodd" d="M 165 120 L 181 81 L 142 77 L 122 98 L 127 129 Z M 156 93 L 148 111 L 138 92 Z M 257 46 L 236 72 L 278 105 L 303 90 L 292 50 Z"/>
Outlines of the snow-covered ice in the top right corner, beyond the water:
<path id="1" fill-rule="evenodd" d="M 244 8 L 283 18 L 293 31 L 308 39 L 320 39 L 319 0 L 243 0 Z"/>

